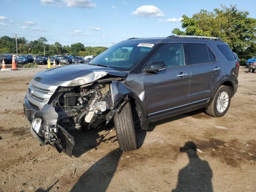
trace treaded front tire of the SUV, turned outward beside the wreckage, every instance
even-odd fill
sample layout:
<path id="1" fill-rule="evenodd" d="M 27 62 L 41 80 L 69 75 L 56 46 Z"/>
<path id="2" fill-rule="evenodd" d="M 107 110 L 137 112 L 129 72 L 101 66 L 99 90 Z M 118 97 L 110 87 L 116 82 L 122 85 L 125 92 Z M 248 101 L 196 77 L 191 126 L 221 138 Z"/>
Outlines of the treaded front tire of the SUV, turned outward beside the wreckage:
<path id="1" fill-rule="evenodd" d="M 124 108 L 119 114 L 115 114 L 114 125 L 120 149 L 122 151 L 137 149 L 137 137 L 130 102 L 124 105 Z"/>

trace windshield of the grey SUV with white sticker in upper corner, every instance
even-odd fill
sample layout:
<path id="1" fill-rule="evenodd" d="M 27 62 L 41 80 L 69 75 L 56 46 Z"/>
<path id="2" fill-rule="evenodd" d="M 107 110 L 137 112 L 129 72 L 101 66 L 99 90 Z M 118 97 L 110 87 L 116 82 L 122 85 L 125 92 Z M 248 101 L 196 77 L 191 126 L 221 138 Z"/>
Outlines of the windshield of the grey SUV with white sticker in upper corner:
<path id="1" fill-rule="evenodd" d="M 89 64 L 130 71 L 153 47 L 154 44 L 121 42 L 90 60 Z"/>

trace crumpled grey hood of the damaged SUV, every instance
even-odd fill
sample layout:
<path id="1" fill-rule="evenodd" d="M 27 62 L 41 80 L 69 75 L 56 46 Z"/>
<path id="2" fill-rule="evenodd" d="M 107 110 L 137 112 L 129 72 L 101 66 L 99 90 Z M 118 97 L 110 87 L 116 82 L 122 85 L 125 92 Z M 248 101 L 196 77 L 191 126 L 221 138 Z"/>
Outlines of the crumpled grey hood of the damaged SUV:
<path id="1" fill-rule="evenodd" d="M 72 64 L 38 72 L 33 79 L 54 86 L 78 86 L 106 76 L 124 77 L 126 72 L 89 64 Z"/>

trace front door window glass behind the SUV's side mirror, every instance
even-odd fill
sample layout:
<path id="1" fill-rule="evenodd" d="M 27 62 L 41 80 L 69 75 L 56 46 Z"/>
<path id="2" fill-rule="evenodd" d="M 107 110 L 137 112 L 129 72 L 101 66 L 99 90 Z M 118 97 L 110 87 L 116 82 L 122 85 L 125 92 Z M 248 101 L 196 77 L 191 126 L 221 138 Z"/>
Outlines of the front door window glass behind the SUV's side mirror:
<path id="1" fill-rule="evenodd" d="M 184 66 L 184 52 L 182 44 L 165 44 L 150 58 L 147 65 L 153 62 L 164 62 L 166 68 Z"/>

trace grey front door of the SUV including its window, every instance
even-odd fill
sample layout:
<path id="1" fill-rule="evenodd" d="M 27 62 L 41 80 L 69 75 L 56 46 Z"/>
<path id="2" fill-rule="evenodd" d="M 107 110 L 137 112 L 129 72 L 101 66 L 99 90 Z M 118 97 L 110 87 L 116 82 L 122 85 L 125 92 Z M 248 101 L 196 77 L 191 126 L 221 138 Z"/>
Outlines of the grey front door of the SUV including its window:
<path id="1" fill-rule="evenodd" d="M 143 72 L 147 115 L 151 118 L 186 110 L 190 66 L 184 62 L 182 44 L 164 44 L 146 64 L 164 62 L 166 70 Z"/>

